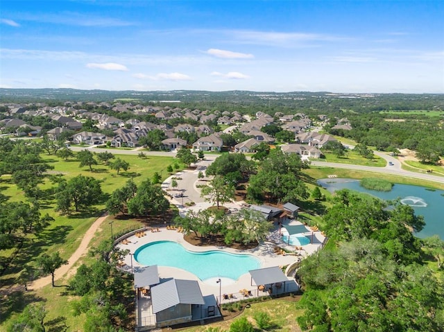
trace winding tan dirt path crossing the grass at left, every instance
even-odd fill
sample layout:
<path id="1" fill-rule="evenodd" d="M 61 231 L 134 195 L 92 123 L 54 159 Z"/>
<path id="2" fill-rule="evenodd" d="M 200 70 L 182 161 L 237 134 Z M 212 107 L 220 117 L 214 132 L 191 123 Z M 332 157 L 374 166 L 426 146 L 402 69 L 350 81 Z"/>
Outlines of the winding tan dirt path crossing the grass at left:
<path id="1" fill-rule="evenodd" d="M 54 281 L 62 278 L 65 276 L 65 274 L 69 273 L 68 275 L 74 274 L 76 272 L 77 268 L 73 268 L 74 264 L 78 259 L 80 259 L 81 256 L 87 254 L 88 252 L 88 245 L 89 242 L 92 240 L 92 237 L 96 233 L 97 229 L 99 229 L 101 223 L 108 218 L 108 213 L 105 213 L 103 216 L 99 217 L 94 221 L 94 223 L 89 227 L 89 229 L 86 231 L 85 236 L 82 238 L 82 242 L 80 242 L 80 245 L 78 246 L 77 250 L 72 254 L 71 257 L 68 259 L 68 263 L 66 265 L 62 265 L 60 268 L 56 270 L 56 274 L 54 275 Z M 51 283 L 51 274 L 46 277 L 42 277 L 39 279 L 36 279 L 32 283 L 28 285 L 29 290 L 35 290 L 38 288 L 42 288 L 46 285 L 49 285 Z"/>

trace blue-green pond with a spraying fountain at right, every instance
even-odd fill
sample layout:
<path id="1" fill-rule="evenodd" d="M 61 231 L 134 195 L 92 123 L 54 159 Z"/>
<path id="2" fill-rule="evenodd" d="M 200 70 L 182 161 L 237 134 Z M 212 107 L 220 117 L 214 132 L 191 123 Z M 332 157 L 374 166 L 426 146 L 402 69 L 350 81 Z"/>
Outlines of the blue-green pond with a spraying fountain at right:
<path id="1" fill-rule="evenodd" d="M 330 192 L 339 189 L 351 189 L 361 193 L 382 198 L 382 200 L 395 200 L 400 198 L 403 204 L 409 204 L 417 216 L 424 216 L 425 227 L 415 235 L 426 238 L 438 234 L 444 239 L 444 191 L 427 189 L 423 186 L 409 184 L 395 184 L 391 191 L 368 190 L 359 185 L 354 179 L 321 179 L 318 184 Z"/>

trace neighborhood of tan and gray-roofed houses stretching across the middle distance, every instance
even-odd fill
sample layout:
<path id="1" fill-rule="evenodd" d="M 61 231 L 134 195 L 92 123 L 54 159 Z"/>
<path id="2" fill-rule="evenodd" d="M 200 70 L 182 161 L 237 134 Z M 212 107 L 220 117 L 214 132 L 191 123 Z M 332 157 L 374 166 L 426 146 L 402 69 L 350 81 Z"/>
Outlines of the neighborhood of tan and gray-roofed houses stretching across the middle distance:
<path id="1" fill-rule="evenodd" d="M 271 116 L 262 112 L 255 114 L 255 119 L 248 115 L 242 115 L 237 111 L 219 112 L 209 110 L 189 110 L 179 107 L 153 107 L 144 105 L 117 104 L 109 103 L 86 103 L 73 105 L 65 103 L 64 106 L 49 107 L 43 104 L 33 105 L 32 110 L 28 110 L 27 105 L 0 105 L 6 110 L 3 119 L 0 120 L 0 130 L 5 133 L 13 133 L 17 136 L 40 136 L 42 127 L 31 125 L 26 121 L 19 119 L 26 116 L 46 116 L 49 123 L 56 123 L 57 127 L 51 130 L 43 130 L 49 139 L 57 140 L 63 132 L 74 132 L 69 137 L 70 143 L 83 145 L 103 145 L 114 148 L 129 147 L 135 148 L 141 146 L 139 140 L 146 137 L 151 130 L 162 130 L 166 139 L 162 140 L 164 150 L 175 150 L 182 146 L 188 146 L 196 151 L 214 151 L 219 152 L 223 149 L 232 152 L 254 153 L 255 148 L 260 143 L 273 145 L 275 138 L 263 131 L 267 125 L 279 125 L 282 130 L 294 134 L 294 142 L 280 145 L 282 150 L 287 153 L 297 153 L 304 158 L 319 158 L 322 155 L 321 148 L 328 141 L 335 141 L 329 134 L 321 134 L 316 131 L 310 131 L 312 120 L 303 113 L 284 115 L 280 112 Z M 101 112 L 89 112 L 81 106 L 87 106 Z M 132 112 L 136 115 L 150 114 L 153 122 L 139 121 L 137 119 L 128 119 L 123 121 L 115 116 L 105 114 L 104 111 Z M 22 114 L 23 116 L 20 116 Z M 115 113 L 114 113 L 115 114 Z M 24 118 L 25 119 L 25 118 Z M 97 130 L 82 131 L 83 123 L 89 119 L 93 121 Z M 169 125 L 170 120 L 178 123 L 176 126 Z M 322 123 L 328 121 L 327 116 L 320 115 L 315 119 Z M 182 123 L 180 123 L 182 122 Z M 191 125 L 190 123 L 193 123 Z M 211 125 L 210 125 L 211 124 Z M 217 124 L 223 126 L 222 132 L 214 132 L 212 128 Z M 333 127 L 338 130 L 350 130 L 351 126 L 347 119 L 339 119 Z M 107 134 L 103 134 L 107 130 Z M 226 147 L 223 144 L 221 134 L 230 134 L 240 132 L 246 139 L 240 141 L 234 146 Z M 110 135 L 112 132 L 112 135 Z M 182 134 L 194 134 L 196 141 L 189 142 Z"/>

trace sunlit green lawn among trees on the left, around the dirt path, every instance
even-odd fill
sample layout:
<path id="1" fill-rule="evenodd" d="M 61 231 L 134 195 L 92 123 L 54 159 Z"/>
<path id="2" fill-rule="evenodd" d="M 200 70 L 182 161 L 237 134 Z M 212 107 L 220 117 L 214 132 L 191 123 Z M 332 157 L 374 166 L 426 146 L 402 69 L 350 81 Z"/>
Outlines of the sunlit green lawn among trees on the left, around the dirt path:
<path id="1" fill-rule="evenodd" d="M 89 168 L 78 168 L 78 161 L 63 161 L 54 156 L 44 156 L 44 158 L 54 166 L 54 170 L 51 173 L 63 173 L 67 179 L 78 174 L 100 179 L 102 181 L 102 189 L 105 193 L 112 193 L 112 191 L 128 181 L 130 177 L 133 177 L 138 184 L 143 180 L 151 179 L 155 172 L 161 173 L 163 171 L 162 177 L 165 178 L 168 176 L 165 170 L 167 165 L 173 164 L 173 158 L 171 157 L 146 157 L 145 159 L 140 159 L 137 156 L 126 155 L 124 159 L 130 163 L 130 169 L 127 172 L 121 171 L 121 173 L 117 175 L 116 171 L 110 170 L 105 165 L 93 166 L 93 172 L 91 172 Z M 19 191 L 15 185 L 10 184 L 8 177 L 0 178 L 0 186 L 4 189 L 3 194 L 8 195 L 11 200 L 23 200 L 23 193 Z M 46 180 L 41 188 L 49 189 L 51 186 L 53 186 L 53 184 L 51 184 L 49 180 Z M 6 273 L 0 277 L 0 283 L 2 285 L 13 285 L 23 266 L 44 252 L 59 251 L 63 258 L 69 258 L 80 244 L 83 234 L 89 229 L 96 217 L 101 214 L 101 211 L 103 211 L 104 204 L 94 207 L 92 211 L 88 211 L 87 213 L 77 213 L 71 216 L 59 216 L 58 213 L 53 211 L 54 207 L 55 201 L 53 200 L 45 201 L 44 204 L 42 204 L 42 215 L 49 213 L 56 221 L 49 225 L 49 227 L 46 227 L 38 237 L 29 235 L 26 238 L 26 245 L 18 252 L 17 256 L 15 256 Z M 112 225 L 114 234 L 121 229 L 135 225 L 135 223 L 134 220 L 114 220 Z M 103 238 L 107 238 L 110 235 L 110 227 L 104 223 L 96 234 L 96 237 L 92 240 L 92 246 L 97 245 Z M 0 252 L 0 255 L 5 259 L 15 253 L 16 250 L 3 250 Z M 90 260 L 89 257 L 83 257 L 78 264 L 88 260 Z M 66 283 L 67 280 L 63 279 L 57 282 L 57 284 L 60 285 L 65 285 Z M 25 295 L 22 295 L 20 292 L 13 292 L 12 295 L 8 297 L 8 301 L 2 301 L 0 303 L 2 321 L 6 320 L 7 322 L 13 312 L 20 312 L 24 304 L 40 300 L 46 302 L 49 310 L 46 320 L 65 316 L 67 317 L 67 325 L 71 326 L 67 331 L 77 331 L 75 326 L 81 326 L 80 322 L 82 322 L 84 318 L 73 317 L 69 307 L 60 305 L 62 303 L 65 304 L 69 299 L 71 299 L 71 297 L 67 296 L 65 287 L 51 288 L 51 286 L 46 286 L 42 288 L 42 290 L 27 292 Z M 4 325 L 0 325 L 0 330 L 1 326 Z"/>

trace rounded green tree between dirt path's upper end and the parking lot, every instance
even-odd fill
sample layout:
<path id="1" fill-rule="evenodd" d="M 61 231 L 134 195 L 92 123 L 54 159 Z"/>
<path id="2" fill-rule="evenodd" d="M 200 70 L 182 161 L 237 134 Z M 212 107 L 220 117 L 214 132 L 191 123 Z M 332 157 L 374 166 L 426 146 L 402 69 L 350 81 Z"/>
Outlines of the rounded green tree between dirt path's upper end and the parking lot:
<path id="1" fill-rule="evenodd" d="M 169 208 L 169 202 L 159 186 L 149 180 L 142 182 L 137 188 L 137 194 L 128 201 L 128 213 L 135 216 L 149 216 L 164 213 Z"/>

